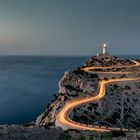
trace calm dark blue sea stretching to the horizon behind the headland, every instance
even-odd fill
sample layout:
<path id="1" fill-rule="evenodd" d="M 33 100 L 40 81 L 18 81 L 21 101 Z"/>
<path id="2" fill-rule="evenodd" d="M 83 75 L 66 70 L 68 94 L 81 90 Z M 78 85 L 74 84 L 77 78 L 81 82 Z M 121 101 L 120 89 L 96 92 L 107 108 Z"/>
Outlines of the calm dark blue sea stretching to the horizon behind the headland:
<path id="1" fill-rule="evenodd" d="M 140 59 L 138 55 L 121 55 Z M 54 99 L 67 70 L 89 58 L 70 56 L 0 56 L 0 124 L 33 121 Z"/>

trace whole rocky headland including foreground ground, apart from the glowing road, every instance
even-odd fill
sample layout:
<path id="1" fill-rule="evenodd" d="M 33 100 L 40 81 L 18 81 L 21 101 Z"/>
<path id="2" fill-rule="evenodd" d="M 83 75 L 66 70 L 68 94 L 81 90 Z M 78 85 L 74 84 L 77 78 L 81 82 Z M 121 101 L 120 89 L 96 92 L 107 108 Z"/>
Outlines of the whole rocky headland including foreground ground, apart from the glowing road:
<path id="1" fill-rule="evenodd" d="M 61 128 L 55 128 L 55 121 L 58 113 L 66 104 L 66 102 L 75 98 L 84 98 L 87 96 L 95 96 L 97 94 L 98 84 L 101 80 L 115 79 L 115 78 L 132 78 L 140 77 L 139 67 L 122 68 L 122 66 L 131 66 L 135 63 L 131 60 L 125 60 L 118 57 L 111 56 L 109 54 L 100 54 L 87 59 L 83 66 L 77 67 L 74 70 L 66 71 L 64 76 L 59 81 L 59 90 L 55 94 L 54 99 L 46 107 L 45 111 L 39 115 L 32 125 L 28 126 L 1 126 L 3 133 L 0 134 L 8 139 L 21 133 L 24 133 L 25 138 L 44 140 L 47 135 L 50 136 L 50 140 L 53 140 L 51 135 L 55 133 L 56 139 L 80 139 L 87 136 L 90 138 L 98 137 L 101 134 L 97 132 L 79 131 L 79 130 L 67 130 L 64 131 Z M 95 69 L 94 71 L 86 72 L 83 68 L 86 67 L 109 67 L 108 69 Z M 113 66 L 117 66 L 113 68 Z M 126 72 L 111 73 L 111 72 Z M 110 72 L 105 74 L 104 72 Z M 129 72 L 129 73 L 127 73 Z M 96 124 L 99 126 L 113 126 L 121 128 L 134 128 L 137 129 L 135 136 L 131 132 L 121 132 L 116 134 L 114 132 L 104 134 L 105 137 L 114 138 L 116 135 L 119 139 L 126 137 L 134 137 L 139 139 L 140 129 L 140 82 L 118 82 L 110 84 L 106 87 L 106 95 L 94 102 L 80 105 L 73 109 L 70 117 L 73 121 L 84 124 Z M 16 132 L 16 129 L 18 131 Z M 52 133 L 52 134 L 51 134 Z M 13 134 L 13 135 L 12 135 Z M 35 134 L 35 136 L 32 136 Z M 102 134 L 103 135 L 103 134 Z M 44 137 L 41 137 L 44 136 Z M 16 137 L 16 136 L 15 136 Z"/>

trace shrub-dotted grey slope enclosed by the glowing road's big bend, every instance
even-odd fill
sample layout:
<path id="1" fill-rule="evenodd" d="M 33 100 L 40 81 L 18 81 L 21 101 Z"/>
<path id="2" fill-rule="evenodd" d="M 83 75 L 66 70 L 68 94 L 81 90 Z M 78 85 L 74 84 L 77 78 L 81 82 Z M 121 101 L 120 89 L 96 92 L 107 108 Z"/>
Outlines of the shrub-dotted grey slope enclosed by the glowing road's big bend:
<path id="1" fill-rule="evenodd" d="M 110 84 L 102 99 L 75 108 L 73 120 L 85 124 L 140 129 L 139 89 L 138 81 Z"/>

